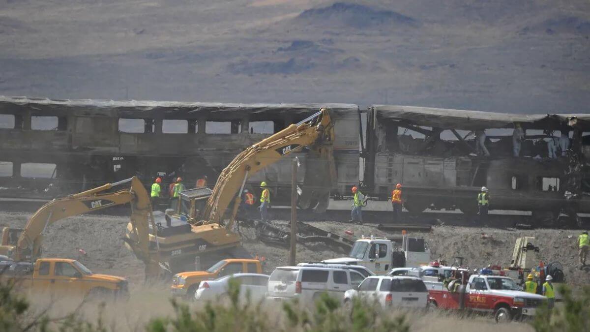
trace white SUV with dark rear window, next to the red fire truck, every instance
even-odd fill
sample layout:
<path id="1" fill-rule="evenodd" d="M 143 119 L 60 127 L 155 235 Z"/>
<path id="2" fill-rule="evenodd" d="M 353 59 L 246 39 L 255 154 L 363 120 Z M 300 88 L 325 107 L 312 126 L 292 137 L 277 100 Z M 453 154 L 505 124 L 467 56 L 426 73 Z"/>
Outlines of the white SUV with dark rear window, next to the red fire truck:
<path id="1" fill-rule="evenodd" d="M 414 276 L 369 276 L 357 289 L 346 291 L 344 301 L 357 296 L 382 306 L 426 308 L 428 305 L 428 289 L 422 279 Z"/>

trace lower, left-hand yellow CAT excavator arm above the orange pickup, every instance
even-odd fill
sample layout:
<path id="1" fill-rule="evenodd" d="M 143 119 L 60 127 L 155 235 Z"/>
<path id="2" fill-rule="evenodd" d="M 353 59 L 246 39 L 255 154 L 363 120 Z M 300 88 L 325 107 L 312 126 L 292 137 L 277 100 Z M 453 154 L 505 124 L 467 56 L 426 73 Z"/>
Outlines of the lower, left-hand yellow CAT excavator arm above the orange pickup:
<path id="1" fill-rule="evenodd" d="M 131 183 L 129 189 L 105 193 L 105 191 L 117 185 L 126 183 Z M 130 241 L 127 241 L 127 243 L 136 256 L 146 263 L 146 266 L 157 264 L 157 259 L 154 261 L 149 252 L 150 222 L 154 226 L 152 227 L 153 232 L 156 232 L 156 227 L 153 225 L 152 205 L 148 192 L 137 177 L 113 184 L 104 184 L 100 187 L 67 197 L 55 198 L 45 204 L 28 220 L 19 236 L 14 259 L 21 261 L 23 259 L 22 252 L 25 249 L 30 249 L 31 258 L 35 259 L 41 247 L 44 230 L 50 224 L 57 222 L 57 220 L 126 203 L 131 204 L 131 224 L 133 225 L 134 232 L 136 232 L 137 239 L 136 243 L 129 243 Z"/>

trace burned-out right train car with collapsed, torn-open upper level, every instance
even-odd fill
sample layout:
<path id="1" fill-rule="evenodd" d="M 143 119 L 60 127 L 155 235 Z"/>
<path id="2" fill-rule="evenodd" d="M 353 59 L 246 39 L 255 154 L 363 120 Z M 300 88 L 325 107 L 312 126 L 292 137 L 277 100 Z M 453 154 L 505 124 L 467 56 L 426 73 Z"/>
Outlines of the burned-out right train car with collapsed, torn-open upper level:
<path id="1" fill-rule="evenodd" d="M 477 193 L 486 186 L 490 209 L 532 211 L 540 223 L 552 224 L 563 211 L 590 212 L 589 121 L 590 115 L 371 106 L 361 152 L 363 185 L 384 200 L 402 183 L 404 205 L 412 213 L 427 208 L 476 213 Z M 516 125 L 525 133 L 518 157 Z M 477 151 L 482 132 L 489 155 Z M 548 145 L 559 145 L 562 132 L 568 147 L 549 155 Z"/>

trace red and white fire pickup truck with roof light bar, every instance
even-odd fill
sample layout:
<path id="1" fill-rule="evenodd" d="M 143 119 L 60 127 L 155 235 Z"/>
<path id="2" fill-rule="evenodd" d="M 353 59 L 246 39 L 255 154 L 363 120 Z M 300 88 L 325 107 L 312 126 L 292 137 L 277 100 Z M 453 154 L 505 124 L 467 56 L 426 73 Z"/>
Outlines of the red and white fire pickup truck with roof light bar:
<path id="1" fill-rule="evenodd" d="M 490 313 L 496 321 L 512 320 L 515 317 L 533 316 L 546 297 L 521 291 L 519 285 L 507 276 L 471 275 L 464 294 L 450 291 L 440 283 L 427 285 L 430 303 L 445 309 L 459 309 L 461 302 L 464 308 L 473 311 Z M 448 288 L 453 288 L 453 283 Z M 462 298 L 463 297 L 463 298 Z"/>

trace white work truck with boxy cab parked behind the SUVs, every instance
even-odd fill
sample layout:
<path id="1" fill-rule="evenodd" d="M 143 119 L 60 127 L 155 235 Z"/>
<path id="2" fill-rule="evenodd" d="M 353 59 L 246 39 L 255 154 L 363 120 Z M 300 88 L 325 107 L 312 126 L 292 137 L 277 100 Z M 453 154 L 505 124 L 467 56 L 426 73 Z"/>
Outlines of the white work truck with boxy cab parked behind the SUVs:
<path id="1" fill-rule="evenodd" d="M 362 237 L 356 240 L 348 257 L 326 259 L 323 262 L 362 265 L 376 275 L 385 275 L 392 268 L 427 265 L 430 262 L 430 249 L 424 239 L 405 234 L 393 240 Z"/>

